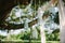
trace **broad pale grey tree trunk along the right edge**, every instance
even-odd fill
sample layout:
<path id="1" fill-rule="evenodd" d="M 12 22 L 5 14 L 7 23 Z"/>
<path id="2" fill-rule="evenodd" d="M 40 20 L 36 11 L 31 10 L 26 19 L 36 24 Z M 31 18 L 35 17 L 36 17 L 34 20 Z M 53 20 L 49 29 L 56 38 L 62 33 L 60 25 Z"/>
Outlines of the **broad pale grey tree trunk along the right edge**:
<path id="1" fill-rule="evenodd" d="M 65 43 L 65 6 L 62 0 L 58 0 L 58 13 L 60 13 L 60 34 L 61 34 L 61 43 Z"/>

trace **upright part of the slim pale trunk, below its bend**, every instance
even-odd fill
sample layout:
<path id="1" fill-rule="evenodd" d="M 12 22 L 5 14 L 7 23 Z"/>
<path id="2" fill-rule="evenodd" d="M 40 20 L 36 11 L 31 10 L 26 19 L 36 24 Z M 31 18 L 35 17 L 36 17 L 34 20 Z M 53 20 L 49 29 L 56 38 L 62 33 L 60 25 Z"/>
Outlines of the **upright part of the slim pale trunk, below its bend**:
<path id="1" fill-rule="evenodd" d="M 40 35 L 41 35 L 41 43 L 46 43 L 46 35 L 44 35 L 44 28 L 43 28 L 43 19 L 42 19 L 43 11 L 41 8 L 38 9 L 38 18 L 40 25 Z"/>

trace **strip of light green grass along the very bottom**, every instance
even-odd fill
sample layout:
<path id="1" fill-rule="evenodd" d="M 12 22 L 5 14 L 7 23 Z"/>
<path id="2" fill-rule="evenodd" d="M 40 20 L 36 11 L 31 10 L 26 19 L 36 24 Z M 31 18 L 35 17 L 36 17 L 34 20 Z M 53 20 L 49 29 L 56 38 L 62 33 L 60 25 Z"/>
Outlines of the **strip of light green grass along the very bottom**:
<path id="1" fill-rule="evenodd" d="M 23 41 L 1 41 L 0 43 L 41 43 L 39 40 L 31 40 L 30 42 L 28 40 L 23 40 Z M 47 41 L 47 43 L 60 43 L 60 41 Z"/>

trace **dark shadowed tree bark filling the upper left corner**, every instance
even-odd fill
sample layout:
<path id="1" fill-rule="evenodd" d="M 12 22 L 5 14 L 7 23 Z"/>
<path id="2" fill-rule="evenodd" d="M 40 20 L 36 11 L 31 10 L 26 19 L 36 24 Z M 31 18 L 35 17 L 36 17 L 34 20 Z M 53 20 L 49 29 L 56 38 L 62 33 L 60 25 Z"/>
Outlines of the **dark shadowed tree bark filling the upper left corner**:
<path id="1" fill-rule="evenodd" d="M 3 22 L 8 16 L 11 10 L 20 4 L 27 4 L 29 0 L 0 0 L 0 22 Z"/>

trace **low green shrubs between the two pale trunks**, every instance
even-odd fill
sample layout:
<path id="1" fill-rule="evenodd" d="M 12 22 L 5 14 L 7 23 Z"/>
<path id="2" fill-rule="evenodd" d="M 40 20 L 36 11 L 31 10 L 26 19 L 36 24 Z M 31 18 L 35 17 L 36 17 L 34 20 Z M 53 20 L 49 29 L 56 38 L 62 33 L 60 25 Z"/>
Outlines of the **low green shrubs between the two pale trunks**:
<path id="1" fill-rule="evenodd" d="M 47 41 L 60 41 L 60 30 L 55 29 L 52 33 L 47 33 L 46 31 L 46 39 Z"/>

